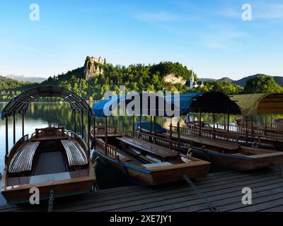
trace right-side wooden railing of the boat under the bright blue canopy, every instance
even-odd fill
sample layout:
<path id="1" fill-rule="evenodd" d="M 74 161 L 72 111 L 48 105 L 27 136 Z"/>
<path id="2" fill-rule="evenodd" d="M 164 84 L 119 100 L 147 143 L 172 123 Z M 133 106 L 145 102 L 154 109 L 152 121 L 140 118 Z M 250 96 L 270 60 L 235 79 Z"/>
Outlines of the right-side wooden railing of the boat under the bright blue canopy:
<path id="1" fill-rule="evenodd" d="M 141 141 L 156 143 L 156 144 L 161 145 L 165 148 L 170 148 L 170 149 L 180 148 L 180 143 L 178 143 L 177 141 L 173 141 L 173 140 L 170 141 L 167 138 L 167 136 L 162 136 L 162 135 L 154 136 L 154 135 L 151 135 L 149 133 L 141 133 L 139 131 L 130 131 L 130 130 L 125 131 L 125 136 L 137 138 Z M 182 143 L 182 146 L 183 146 L 183 148 L 185 146 L 190 147 L 190 144 L 189 143 Z"/>

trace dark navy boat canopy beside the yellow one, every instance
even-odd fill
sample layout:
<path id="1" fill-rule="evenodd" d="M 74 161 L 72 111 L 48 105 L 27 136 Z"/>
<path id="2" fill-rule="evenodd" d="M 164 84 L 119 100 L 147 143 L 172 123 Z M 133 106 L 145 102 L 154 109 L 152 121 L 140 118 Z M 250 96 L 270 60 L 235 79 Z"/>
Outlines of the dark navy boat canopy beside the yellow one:
<path id="1" fill-rule="evenodd" d="M 173 97 L 172 99 L 175 105 L 180 105 L 182 115 L 200 112 L 241 114 L 240 107 L 233 100 L 230 100 L 229 96 L 221 92 L 185 93 L 180 95 L 180 100 L 174 100 Z"/>

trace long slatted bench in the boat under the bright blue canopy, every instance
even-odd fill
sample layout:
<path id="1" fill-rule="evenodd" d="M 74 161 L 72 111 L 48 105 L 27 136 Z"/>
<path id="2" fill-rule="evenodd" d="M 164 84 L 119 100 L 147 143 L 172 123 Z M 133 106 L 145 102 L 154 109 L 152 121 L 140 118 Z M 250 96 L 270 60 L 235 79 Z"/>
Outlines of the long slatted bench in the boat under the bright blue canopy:
<path id="1" fill-rule="evenodd" d="M 117 140 L 122 141 L 123 143 L 127 143 L 128 145 L 131 145 L 134 148 L 139 148 L 148 153 L 152 153 L 161 157 L 175 157 L 179 155 L 178 151 L 163 148 L 160 145 L 141 141 L 136 138 L 118 137 Z"/>

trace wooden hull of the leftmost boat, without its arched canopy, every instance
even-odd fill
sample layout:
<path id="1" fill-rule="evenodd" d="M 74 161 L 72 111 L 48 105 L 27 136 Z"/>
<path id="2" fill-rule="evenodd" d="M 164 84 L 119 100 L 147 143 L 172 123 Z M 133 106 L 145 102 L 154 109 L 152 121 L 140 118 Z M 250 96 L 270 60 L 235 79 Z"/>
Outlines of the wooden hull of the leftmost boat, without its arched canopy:
<path id="1" fill-rule="evenodd" d="M 21 138 L 8 155 L 1 193 L 8 203 L 26 202 L 30 189 L 40 190 L 40 199 L 81 194 L 91 190 L 95 174 L 86 143 L 64 128 L 36 129 Z"/>

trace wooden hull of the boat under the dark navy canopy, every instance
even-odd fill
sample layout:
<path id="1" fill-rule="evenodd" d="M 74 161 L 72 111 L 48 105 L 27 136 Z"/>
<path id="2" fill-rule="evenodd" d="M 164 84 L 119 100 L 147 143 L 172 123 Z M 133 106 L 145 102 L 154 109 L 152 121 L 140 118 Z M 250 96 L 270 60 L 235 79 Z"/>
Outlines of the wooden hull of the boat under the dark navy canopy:
<path id="1" fill-rule="evenodd" d="M 163 138 L 170 138 L 170 131 L 157 134 Z M 180 139 L 178 145 L 171 146 L 185 153 L 190 149 L 193 156 L 227 169 L 250 170 L 283 164 L 283 153 L 277 150 L 245 147 L 236 143 L 189 136 L 183 133 L 178 136 L 178 133 L 173 131 L 171 137 L 175 142 Z M 160 144 L 163 145 L 163 143 Z"/>

